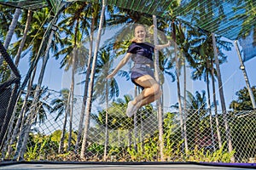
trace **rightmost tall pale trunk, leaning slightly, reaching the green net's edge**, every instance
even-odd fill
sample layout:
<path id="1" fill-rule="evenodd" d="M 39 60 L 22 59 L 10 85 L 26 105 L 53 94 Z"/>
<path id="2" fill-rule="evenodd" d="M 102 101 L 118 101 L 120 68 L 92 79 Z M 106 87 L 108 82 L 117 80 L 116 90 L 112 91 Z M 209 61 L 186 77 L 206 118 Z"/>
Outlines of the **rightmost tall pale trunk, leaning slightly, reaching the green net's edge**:
<path id="1" fill-rule="evenodd" d="M 214 33 L 212 33 L 212 45 L 213 45 L 213 51 L 214 51 L 214 59 L 215 59 L 215 65 L 216 65 L 216 70 L 217 70 L 217 76 L 218 76 L 219 97 L 220 97 L 222 112 L 224 114 L 224 125 L 225 125 L 225 130 L 226 130 L 226 138 L 228 141 L 229 152 L 231 152 L 233 150 L 233 147 L 232 147 L 232 142 L 231 142 L 230 126 L 229 126 L 229 122 L 228 122 L 226 105 L 225 105 L 225 100 L 224 100 L 223 84 L 222 84 L 222 80 L 221 80 L 221 74 L 220 74 L 220 68 L 219 68 L 219 62 L 218 62 L 217 45 L 216 45 L 216 39 L 215 39 Z M 235 161 L 234 156 L 231 158 L 231 161 Z"/>

